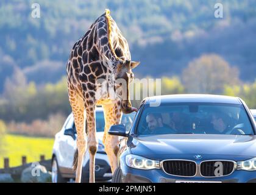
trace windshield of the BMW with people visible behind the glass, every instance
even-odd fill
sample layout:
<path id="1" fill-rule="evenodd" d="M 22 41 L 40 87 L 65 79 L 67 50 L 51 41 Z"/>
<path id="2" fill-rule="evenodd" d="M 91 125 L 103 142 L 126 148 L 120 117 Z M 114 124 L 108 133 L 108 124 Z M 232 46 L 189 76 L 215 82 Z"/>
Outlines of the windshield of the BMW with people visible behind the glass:
<path id="1" fill-rule="evenodd" d="M 254 135 L 243 105 L 216 103 L 145 105 L 138 135 L 159 134 Z"/>

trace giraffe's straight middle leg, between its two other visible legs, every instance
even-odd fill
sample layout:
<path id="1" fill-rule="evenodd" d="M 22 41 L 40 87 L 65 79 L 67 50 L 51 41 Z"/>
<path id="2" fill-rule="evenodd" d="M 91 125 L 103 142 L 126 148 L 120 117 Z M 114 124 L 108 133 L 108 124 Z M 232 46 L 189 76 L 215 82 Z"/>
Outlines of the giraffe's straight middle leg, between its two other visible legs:
<path id="1" fill-rule="evenodd" d="M 95 155 L 98 149 L 98 139 L 96 137 L 96 124 L 95 124 L 95 105 L 93 101 L 86 105 L 87 113 L 87 127 L 88 127 L 88 149 L 90 155 L 90 183 L 95 182 Z"/>

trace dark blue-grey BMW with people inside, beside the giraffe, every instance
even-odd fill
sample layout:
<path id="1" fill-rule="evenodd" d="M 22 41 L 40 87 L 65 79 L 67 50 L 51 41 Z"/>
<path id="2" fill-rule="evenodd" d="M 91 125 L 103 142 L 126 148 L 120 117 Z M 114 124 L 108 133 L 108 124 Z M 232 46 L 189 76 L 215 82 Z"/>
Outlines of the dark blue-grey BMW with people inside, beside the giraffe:
<path id="1" fill-rule="evenodd" d="M 256 127 L 240 98 L 181 94 L 146 98 L 123 136 L 112 182 L 256 182 Z"/>

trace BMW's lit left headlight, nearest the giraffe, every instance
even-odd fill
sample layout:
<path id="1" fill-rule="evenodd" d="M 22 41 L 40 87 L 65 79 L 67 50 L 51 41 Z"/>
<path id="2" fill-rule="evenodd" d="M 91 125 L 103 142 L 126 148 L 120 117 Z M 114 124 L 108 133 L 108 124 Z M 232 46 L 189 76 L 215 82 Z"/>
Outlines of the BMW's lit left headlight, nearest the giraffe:
<path id="1" fill-rule="evenodd" d="M 126 165 L 136 169 L 160 169 L 159 161 L 133 154 L 126 155 Z"/>

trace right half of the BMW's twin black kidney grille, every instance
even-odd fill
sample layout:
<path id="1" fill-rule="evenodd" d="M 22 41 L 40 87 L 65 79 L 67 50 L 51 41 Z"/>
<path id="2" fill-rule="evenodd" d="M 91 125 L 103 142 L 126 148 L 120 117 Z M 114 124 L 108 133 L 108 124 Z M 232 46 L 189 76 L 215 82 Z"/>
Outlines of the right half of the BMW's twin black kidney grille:
<path id="1" fill-rule="evenodd" d="M 216 170 L 219 166 L 215 166 L 216 162 L 222 163 L 222 171 Z M 204 177 L 227 176 L 233 172 L 235 164 L 233 161 L 204 161 L 201 163 L 200 171 Z M 216 173 L 215 173 L 216 170 Z"/>

